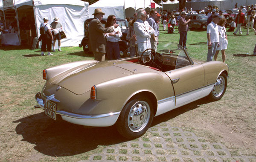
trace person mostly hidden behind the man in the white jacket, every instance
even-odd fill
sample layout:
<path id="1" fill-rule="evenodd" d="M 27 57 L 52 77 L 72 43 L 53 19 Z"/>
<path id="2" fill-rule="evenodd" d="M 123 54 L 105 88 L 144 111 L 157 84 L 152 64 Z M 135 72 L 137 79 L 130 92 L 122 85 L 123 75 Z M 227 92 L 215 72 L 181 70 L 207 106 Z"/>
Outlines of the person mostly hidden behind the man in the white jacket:
<path id="1" fill-rule="evenodd" d="M 130 57 L 135 56 L 136 50 L 135 50 L 135 43 L 136 43 L 136 35 L 134 32 L 134 22 L 137 20 L 137 13 L 134 14 L 133 20 L 129 21 L 129 30 L 126 35 L 126 40 L 130 41 Z"/>

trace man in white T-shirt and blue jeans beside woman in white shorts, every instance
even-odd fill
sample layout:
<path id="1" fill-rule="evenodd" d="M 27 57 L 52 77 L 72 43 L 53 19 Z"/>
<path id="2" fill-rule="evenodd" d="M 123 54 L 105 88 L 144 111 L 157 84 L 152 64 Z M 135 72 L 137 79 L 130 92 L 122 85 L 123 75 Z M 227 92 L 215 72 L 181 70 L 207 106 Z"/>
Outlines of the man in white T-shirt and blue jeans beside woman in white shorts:
<path id="1" fill-rule="evenodd" d="M 207 26 L 207 44 L 208 44 L 208 53 L 207 61 L 212 61 L 212 57 L 215 55 L 216 49 L 219 46 L 219 35 L 218 35 L 218 25 L 221 16 L 215 14 L 212 17 L 212 22 Z"/>

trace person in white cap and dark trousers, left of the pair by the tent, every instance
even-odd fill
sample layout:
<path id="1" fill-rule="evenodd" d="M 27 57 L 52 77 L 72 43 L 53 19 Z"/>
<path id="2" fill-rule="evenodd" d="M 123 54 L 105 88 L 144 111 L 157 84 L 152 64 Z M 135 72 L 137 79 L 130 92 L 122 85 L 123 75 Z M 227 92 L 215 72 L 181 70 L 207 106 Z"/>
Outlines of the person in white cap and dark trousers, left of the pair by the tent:
<path id="1" fill-rule="evenodd" d="M 44 52 L 46 52 L 46 47 L 47 47 L 47 52 L 48 55 L 51 54 L 52 50 L 52 43 L 53 43 L 53 36 L 51 32 L 51 27 L 48 24 L 48 17 L 44 17 L 44 23 L 41 23 L 40 25 L 40 38 L 39 41 L 42 40 L 42 46 L 41 46 L 41 56 L 44 56 Z"/>

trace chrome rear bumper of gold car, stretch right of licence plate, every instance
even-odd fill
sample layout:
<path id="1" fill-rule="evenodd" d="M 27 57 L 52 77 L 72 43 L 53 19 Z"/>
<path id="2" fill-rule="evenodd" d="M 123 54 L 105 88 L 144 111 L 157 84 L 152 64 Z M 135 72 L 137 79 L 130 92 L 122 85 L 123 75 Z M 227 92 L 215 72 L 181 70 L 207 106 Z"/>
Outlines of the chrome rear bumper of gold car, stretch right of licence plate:
<path id="1" fill-rule="evenodd" d="M 99 115 L 82 115 L 82 114 L 76 114 L 76 113 L 69 113 L 64 110 L 57 110 L 56 114 L 59 114 L 61 116 L 67 116 L 71 118 L 76 118 L 76 119 L 99 119 L 99 118 L 106 118 L 109 116 L 115 116 L 119 115 L 121 111 L 115 112 L 115 113 L 107 113 L 107 114 L 99 114 Z"/>

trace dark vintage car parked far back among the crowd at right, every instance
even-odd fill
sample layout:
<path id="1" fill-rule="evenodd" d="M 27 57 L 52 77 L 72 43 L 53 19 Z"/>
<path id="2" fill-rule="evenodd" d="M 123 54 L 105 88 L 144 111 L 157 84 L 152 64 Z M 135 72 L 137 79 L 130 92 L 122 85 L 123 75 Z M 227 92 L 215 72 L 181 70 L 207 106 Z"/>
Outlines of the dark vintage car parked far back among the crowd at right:
<path id="1" fill-rule="evenodd" d="M 189 27 L 201 28 L 202 30 L 207 29 L 207 16 L 206 14 L 189 14 L 186 15 L 186 20 L 191 19 Z"/>

